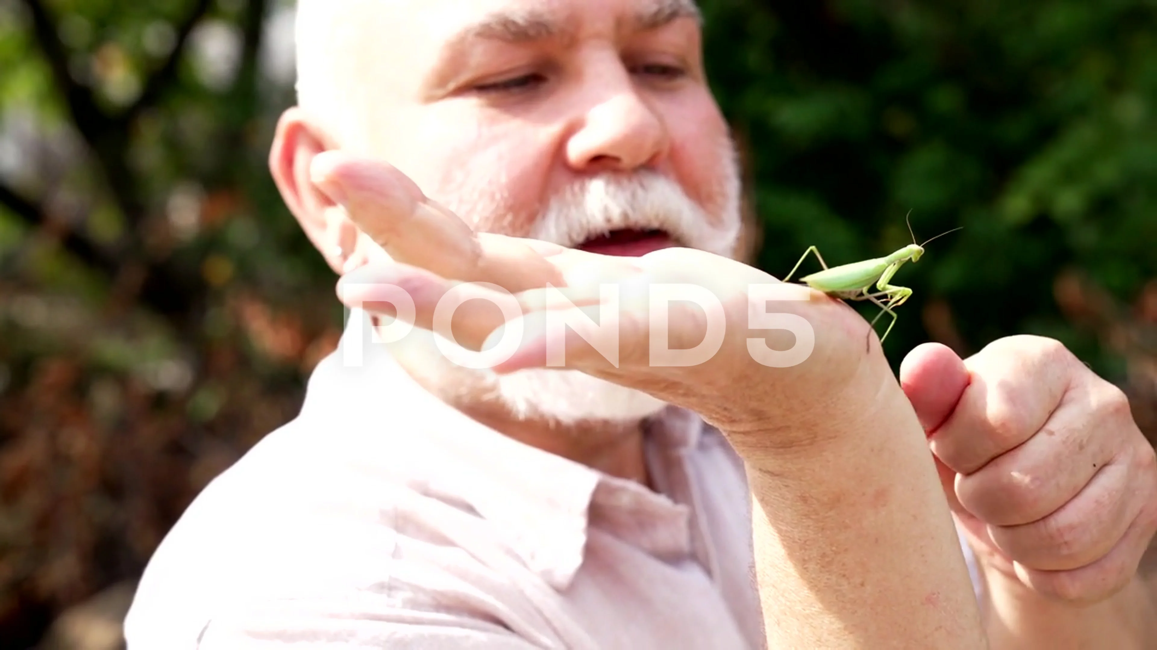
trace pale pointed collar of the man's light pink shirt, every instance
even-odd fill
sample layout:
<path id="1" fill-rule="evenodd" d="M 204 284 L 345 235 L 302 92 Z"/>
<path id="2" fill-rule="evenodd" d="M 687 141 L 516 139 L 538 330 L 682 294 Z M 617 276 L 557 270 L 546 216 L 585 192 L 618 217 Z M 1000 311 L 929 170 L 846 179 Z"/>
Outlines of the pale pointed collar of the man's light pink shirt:
<path id="1" fill-rule="evenodd" d="M 676 561 L 691 553 L 686 505 L 470 419 L 422 389 L 385 346 L 367 345 L 370 337 L 354 325 L 367 323 L 362 318 L 363 312 L 353 311 L 338 350 L 310 377 L 303 416 L 322 416 L 331 424 L 337 424 L 334 418 L 342 420 L 345 427 L 330 429 L 353 433 L 355 446 L 370 442 L 367 436 L 385 438 L 390 453 L 404 445 L 404 453 L 414 456 L 421 481 L 433 481 L 432 488 L 465 501 L 494 523 L 526 566 L 557 590 L 566 589 L 582 566 L 592 509 L 600 519 L 607 514 L 612 519 L 633 518 L 640 525 L 620 530 L 629 533 L 625 541 L 658 557 Z M 389 411 L 383 408 L 386 391 Z M 397 411 L 399 405 L 405 412 Z M 389 426 L 368 429 L 374 422 Z M 699 422 L 693 413 L 670 407 L 648 422 L 649 444 L 694 446 Z M 393 461 L 397 465 L 397 458 Z"/>

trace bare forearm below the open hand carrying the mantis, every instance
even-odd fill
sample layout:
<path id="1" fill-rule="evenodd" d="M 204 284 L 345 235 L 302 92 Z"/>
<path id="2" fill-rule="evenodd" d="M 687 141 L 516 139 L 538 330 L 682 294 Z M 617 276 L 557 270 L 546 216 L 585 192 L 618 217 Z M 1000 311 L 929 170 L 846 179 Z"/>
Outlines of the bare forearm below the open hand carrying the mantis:
<path id="1" fill-rule="evenodd" d="M 927 441 L 891 387 L 813 450 L 745 455 L 769 648 L 986 645 Z"/>

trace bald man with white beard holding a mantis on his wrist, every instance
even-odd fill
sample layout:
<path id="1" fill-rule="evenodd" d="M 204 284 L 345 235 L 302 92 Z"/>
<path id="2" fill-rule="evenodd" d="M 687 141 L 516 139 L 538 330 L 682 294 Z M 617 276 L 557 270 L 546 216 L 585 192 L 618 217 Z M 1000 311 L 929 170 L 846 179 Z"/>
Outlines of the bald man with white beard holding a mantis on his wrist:
<path id="1" fill-rule="evenodd" d="M 299 21 L 271 167 L 358 309 L 159 548 L 131 649 L 1157 640 L 1157 468 L 1119 391 L 1031 337 L 919 348 L 898 384 L 854 311 L 728 257 L 692 2 Z"/>

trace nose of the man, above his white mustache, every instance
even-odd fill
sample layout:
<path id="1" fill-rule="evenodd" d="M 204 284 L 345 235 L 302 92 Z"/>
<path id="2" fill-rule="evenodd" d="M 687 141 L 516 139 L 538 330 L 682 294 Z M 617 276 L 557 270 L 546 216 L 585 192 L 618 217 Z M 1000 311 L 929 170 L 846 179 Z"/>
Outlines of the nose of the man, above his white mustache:
<path id="1" fill-rule="evenodd" d="M 629 171 L 653 165 L 668 148 L 662 116 L 626 71 L 594 82 L 589 106 L 567 142 L 567 161 L 581 172 Z"/>

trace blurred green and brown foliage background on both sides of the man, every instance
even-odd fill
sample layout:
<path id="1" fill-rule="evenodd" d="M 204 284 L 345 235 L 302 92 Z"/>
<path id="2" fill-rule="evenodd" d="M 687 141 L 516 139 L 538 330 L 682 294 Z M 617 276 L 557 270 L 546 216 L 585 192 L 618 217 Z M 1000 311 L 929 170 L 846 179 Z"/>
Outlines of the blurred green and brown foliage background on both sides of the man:
<path id="1" fill-rule="evenodd" d="M 896 278 L 893 362 L 1038 333 L 1157 386 L 1157 2 L 700 5 L 762 268 L 963 226 Z M 334 345 L 265 164 L 288 9 L 0 0 L 0 637 L 137 576 Z"/>

